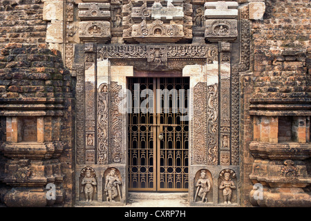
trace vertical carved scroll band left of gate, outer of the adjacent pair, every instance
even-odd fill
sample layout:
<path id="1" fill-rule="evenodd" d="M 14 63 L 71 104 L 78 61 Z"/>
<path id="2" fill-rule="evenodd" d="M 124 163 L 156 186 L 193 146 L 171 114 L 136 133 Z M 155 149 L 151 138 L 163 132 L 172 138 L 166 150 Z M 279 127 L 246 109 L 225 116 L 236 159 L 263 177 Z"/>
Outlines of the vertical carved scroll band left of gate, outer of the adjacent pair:
<path id="1" fill-rule="evenodd" d="M 109 164 L 109 91 L 101 84 L 97 93 L 97 163 Z"/>

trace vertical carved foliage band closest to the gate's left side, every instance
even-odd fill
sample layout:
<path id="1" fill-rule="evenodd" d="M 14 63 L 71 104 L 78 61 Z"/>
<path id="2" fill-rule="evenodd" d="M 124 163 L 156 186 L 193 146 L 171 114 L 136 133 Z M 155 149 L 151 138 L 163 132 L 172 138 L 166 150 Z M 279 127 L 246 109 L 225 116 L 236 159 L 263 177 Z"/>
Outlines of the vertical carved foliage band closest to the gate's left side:
<path id="1" fill-rule="evenodd" d="M 111 81 L 111 162 L 122 162 L 122 146 L 123 146 L 123 117 L 120 112 L 122 97 L 119 96 L 122 86 L 117 82 Z"/>

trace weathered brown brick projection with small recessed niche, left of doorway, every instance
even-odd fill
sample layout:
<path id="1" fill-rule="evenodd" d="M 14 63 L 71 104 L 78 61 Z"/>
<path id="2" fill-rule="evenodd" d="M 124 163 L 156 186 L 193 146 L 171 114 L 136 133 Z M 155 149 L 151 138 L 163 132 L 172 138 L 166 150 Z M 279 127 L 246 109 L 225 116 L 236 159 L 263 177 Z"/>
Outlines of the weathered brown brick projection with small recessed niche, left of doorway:
<path id="1" fill-rule="evenodd" d="M 6 206 L 73 205 L 73 85 L 60 52 L 47 47 L 9 43 L 0 49 Z M 46 197 L 48 184 L 55 185 L 55 199 Z"/>

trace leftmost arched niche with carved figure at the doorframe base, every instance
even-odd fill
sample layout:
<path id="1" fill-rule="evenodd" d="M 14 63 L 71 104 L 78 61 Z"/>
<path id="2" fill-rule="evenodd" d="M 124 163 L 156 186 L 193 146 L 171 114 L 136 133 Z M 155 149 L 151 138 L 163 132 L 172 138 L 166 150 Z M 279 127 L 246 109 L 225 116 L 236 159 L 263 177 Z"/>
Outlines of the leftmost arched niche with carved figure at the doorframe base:
<path id="1" fill-rule="evenodd" d="M 79 200 L 92 202 L 97 200 L 97 177 L 91 166 L 82 169 L 79 177 Z"/>

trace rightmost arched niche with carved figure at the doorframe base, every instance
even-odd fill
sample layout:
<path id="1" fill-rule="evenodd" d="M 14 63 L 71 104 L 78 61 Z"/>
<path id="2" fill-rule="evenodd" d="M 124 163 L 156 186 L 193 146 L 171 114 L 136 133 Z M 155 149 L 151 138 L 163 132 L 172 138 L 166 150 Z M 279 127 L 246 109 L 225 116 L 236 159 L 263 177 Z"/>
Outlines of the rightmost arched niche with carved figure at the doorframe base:
<path id="1" fill-rule="evenodd" d="M 218 204 L 236 204 L 236 186 L 236 173 L 232 169 L 221 171 L 218 177 Z"/>

